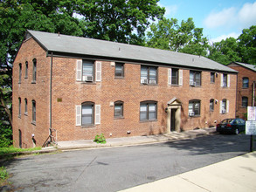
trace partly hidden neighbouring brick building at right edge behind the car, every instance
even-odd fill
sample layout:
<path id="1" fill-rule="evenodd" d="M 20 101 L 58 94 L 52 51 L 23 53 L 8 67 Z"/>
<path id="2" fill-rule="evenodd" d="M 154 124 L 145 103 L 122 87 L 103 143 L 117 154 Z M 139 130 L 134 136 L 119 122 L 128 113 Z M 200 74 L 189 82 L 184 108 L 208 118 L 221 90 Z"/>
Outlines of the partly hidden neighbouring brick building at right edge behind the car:
<path id="1" fill-rule="evenodd" d="M 236 115 L 237 117 L 246 120 L 247 106 L 256 106 L 256 65 L 232 62 L 228 66 L 239 72 Z"/>

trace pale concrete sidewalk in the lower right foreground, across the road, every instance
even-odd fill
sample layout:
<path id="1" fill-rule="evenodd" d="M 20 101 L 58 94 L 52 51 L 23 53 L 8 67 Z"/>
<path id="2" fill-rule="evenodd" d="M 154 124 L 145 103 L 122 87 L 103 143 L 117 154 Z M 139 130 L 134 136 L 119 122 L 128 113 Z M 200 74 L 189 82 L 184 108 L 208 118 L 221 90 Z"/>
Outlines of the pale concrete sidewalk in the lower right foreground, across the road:
<path id="1" fill-rule="evenodd" d="M 142 191 L 256 191 L 256 152 L 204 168 L 150 182 L 122 192 Z"/>

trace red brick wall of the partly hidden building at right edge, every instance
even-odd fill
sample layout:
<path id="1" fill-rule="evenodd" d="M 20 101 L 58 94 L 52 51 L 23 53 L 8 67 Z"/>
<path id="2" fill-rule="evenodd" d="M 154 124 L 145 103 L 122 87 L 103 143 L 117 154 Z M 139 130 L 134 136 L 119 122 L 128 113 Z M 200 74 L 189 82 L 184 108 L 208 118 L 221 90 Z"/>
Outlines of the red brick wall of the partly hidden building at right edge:
<path id="1" fill-rule="evenodd" d="M 239 72 L 236 115 L 246 120 L 247 107 L 242 106 L 242 97 L 248 98 L 248 106 L 253 105 L 253 81 L 256 81 L 256 72 L 240 65 L 233 64 L 229 65 L 229 67 Z M 249 78 L 249 88 L 243 88 L 244 77 Z"/>

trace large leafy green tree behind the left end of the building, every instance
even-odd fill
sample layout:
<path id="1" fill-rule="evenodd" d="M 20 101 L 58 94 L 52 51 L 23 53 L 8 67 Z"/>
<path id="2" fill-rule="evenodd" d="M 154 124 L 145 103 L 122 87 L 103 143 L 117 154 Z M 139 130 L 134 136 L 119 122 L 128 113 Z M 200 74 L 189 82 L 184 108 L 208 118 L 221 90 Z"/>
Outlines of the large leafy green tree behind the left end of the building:
<path id="1" fill-rule="evenodd" d="M 158 1 L 1 0 L 0 111 L 10 126 L 12 63 L 26 30 L 143 45 L 149 19 L 163 17 L 164 8 L 157 5 Z"/>

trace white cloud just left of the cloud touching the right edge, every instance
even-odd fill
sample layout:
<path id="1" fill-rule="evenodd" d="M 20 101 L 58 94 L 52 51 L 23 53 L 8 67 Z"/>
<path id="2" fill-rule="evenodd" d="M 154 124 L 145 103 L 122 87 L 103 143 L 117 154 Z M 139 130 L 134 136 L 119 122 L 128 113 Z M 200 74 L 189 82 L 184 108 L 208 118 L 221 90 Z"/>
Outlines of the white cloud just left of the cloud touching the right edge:
<path id="1" fill-rule="evenodd" d="M 204 19 L 204 24 L 208 28 L 217 28 L 225 26 L 226 24 L 230 25 L 233 23 L 235 13 L 236 9 L 233 7 L 219 12 L 211 12 L 210 15 Z"/>

